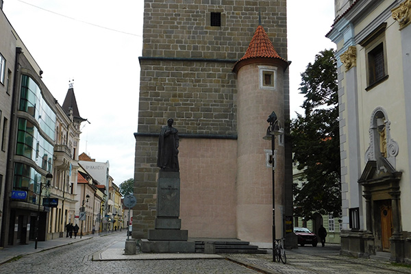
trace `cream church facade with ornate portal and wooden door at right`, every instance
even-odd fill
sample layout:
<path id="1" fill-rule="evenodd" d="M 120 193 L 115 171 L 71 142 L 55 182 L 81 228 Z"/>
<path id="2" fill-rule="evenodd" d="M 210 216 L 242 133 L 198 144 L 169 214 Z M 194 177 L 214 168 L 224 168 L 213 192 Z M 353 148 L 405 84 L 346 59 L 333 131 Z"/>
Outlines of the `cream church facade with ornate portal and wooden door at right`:
<path id="1" fill-rule="evenodd" d="M 341 252 L 411 262 L 411 1 L 335 3 Z"/>

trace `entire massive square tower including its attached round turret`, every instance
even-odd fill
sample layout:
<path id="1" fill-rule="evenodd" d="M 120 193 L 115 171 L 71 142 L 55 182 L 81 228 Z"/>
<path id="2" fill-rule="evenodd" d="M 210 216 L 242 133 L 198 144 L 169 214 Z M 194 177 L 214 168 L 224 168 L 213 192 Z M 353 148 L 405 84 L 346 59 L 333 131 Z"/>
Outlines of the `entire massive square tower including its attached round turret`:
<path id="1" fill-rule="evenodd" d="M 189 237 L 270 246 L 274 180 L 271 142 L 263 137 L 273 111 L 288 130 L 286 1 L 188 2 L 145 1 L 133 238 L 147 238 L 154 227 L 158 136 L 173 118 L 182 229 Z M 274 155 L 279 238 L 292 219 L 284 135 L 275 138 Z"/>

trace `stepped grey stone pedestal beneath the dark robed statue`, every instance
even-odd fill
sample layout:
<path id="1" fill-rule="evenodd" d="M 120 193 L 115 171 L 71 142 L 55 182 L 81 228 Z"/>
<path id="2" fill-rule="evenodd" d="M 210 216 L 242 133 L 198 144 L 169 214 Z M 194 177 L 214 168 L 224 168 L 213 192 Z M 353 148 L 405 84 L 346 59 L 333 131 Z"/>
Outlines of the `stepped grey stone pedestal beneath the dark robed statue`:
<path id="1" fill-rule="evenodd" d="M 179 173 L 160 171 L 155 229 L 149 230 L 147 239 L 140 240 L 139 245 L 142 252 L 195 252 L 195 242 L 187 241 L 188 231 L 181 230 L 179 194 Z"/>

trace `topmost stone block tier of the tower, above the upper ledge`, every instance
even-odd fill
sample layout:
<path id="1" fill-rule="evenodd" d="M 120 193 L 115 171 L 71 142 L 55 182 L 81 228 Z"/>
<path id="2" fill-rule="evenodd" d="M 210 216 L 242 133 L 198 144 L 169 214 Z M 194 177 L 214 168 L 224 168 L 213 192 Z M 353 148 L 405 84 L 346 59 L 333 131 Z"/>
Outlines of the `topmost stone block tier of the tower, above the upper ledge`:
<path id="1" fill-rule="evenodd" d="M 221 27 L 210 26 L 221 12 Z M 261 24 L 286 52 L 286 0 L 145 0 L 143 56 L 239 60 Z"/>

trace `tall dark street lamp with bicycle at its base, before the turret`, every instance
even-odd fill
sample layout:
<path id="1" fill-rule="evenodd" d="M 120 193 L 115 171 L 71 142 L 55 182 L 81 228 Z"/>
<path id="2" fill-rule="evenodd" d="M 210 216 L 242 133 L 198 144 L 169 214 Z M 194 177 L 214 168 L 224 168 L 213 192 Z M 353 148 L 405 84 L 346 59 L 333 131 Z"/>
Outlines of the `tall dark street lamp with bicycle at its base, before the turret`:
<path id="1" fill-rule="evenodd" d="M 275 112 L 271 113 L 267 122 L 270 123 L 267 127 L 266 136 L 263 137 L 264 140 L 271 140 L 271 167 L 273 169 L 273 262 L 275 262 L 275 136 L 281 135 L 283 132 L 279 127 L 279 121 L 277 120 L 277 115 Z"/>

